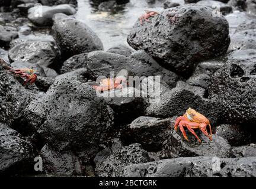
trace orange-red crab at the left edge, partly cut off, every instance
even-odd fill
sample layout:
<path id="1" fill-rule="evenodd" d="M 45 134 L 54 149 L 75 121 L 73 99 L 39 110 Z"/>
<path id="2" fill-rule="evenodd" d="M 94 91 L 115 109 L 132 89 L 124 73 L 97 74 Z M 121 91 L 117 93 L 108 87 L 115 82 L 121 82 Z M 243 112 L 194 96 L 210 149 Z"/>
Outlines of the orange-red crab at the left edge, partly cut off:
<path id="1" fill-rule="evenodd" d="M 35 74 L 34 69 L 13 69 L 12 67 L 7 66 L 7 63 L 0 58 L 0 63 L 7 69 L 10 73 L 14 74 L 17 77 L 21 77 L 25 80 L 23 85 L 27 83 L 34 84 L 37 80 L 37 74 Z"/>

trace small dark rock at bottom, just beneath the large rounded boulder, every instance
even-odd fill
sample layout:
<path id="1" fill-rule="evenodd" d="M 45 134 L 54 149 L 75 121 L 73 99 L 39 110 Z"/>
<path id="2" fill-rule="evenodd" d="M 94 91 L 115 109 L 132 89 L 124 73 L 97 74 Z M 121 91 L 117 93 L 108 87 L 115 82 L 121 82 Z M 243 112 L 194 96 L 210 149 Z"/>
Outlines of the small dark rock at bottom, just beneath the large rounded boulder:
<path id="1" fill-rule="evenodd" d="M 81 161 L 72 152 L 60 154 L 59 152 L 53 151 L 49 146 L 44 145 L 40 151 L 40 157 L 43 159 L 43 171 L 46 174 L 82 174 Z"/>

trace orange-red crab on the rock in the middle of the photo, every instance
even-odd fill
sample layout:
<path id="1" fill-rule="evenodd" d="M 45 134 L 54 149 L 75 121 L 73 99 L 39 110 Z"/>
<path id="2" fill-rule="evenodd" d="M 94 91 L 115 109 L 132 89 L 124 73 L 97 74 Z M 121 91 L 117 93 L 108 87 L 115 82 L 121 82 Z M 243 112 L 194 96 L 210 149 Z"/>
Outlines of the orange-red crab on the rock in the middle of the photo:
<path id="1" fill-rule="evenodd" d="M 126 82 L 126 79 L 123 77 L 116 77 L 115 79 L 113 78 L 107 78 L 107 79 L 102 79 L 100 81 L 100 85 L 94 85 L 95 90 L 104 92 L 107 90 L 112 90 L 112 89 L 122 89 L 123 84 Z"/>

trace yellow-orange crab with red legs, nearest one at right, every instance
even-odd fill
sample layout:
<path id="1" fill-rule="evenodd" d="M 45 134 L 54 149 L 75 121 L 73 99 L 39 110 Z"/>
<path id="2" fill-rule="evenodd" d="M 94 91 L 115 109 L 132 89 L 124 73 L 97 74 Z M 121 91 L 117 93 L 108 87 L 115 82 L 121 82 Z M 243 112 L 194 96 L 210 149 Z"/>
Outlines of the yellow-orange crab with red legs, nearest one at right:
<path id="1" fill-rule="evenodd" d="M 210 135 L 208 134 L 206 128 L 209 125 L 210 128 Z M 201 142 L 197 134 L 194 132 L 193 129 L 200 129 L 201 132 L 204 133 L 211 141 L 212 141 L 212 127 L 210 125 L 209 120 L 204 116 L 201 115 L 196 110 L 188 108 L 183 116 L 178 117 L 175 120 L 174 129 L 177 131 L 178 127 L 180 128 L 181 132 L 183 133 L 184 138 L 188 141 L 187 135 L 185 133 L 184 127 L 188 129 L 194 136 L 196 136 L 197 140 Z"/>

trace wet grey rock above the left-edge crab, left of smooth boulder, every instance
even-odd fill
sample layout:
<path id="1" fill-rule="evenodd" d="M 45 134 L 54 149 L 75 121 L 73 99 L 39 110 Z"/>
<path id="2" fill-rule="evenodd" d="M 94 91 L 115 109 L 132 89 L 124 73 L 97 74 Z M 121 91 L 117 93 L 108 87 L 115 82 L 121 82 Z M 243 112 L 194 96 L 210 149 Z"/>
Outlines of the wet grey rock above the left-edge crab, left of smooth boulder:
<path id="1" fill-rule="evenodd" d="M 9 59 L 13 61 L 28 61 L 40 66 L 55 66 L 59 64 L 59 50 L 53 43 L 47 41 L 27 41 L 9 50 Z"/>

